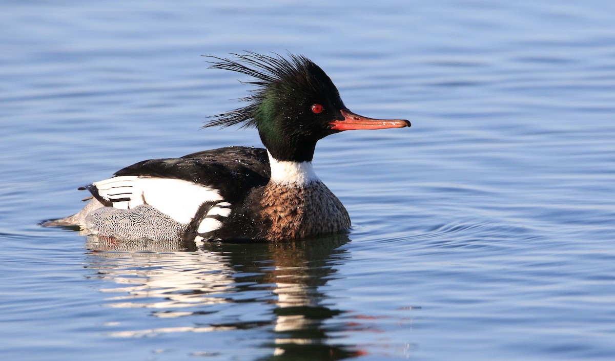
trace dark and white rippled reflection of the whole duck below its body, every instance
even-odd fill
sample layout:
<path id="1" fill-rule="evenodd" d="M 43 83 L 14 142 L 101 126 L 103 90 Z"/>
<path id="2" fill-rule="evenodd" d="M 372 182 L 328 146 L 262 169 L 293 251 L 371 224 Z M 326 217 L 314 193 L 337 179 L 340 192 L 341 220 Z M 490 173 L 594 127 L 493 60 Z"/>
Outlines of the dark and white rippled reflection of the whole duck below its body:
<path id="1" fill-rule="evenodd" d="M 110 336 L 235 332 L 240 343 L 242 332 L 257 330 L 263 340 L 259 347 L 271 349 L 259 360 L 339 360 L 363 354 L 354 345 L 331 343 L 336 340 L 331 333 L 353 326 L 336 320 L 346 311 L 336 309 L 323 290 L 336 278 L 336 266 L 351 257 L 341 247 L 347 242 L 347 235 L 332 235 L 289 243 L 197 246 L 89 236 L 87 262 L 97 270 L 95 278 L 118 286 L 101 289 L 120 294 L 107 298 L 107 306 L 151 308 L 163 321 L 184 319 L 181 325 L 160 322 L 161 327 Z"/>

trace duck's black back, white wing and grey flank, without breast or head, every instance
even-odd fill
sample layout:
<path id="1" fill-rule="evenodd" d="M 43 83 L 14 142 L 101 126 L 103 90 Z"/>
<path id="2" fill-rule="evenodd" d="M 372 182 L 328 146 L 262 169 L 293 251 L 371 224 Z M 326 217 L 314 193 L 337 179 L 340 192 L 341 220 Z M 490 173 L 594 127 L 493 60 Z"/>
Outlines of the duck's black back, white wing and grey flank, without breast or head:
<path id="1" fill-rule="evenodd" d="M 104 206 L 84 215 L 85 227 L 120 239 L 216 238 L 212 232 L 270 176 L 267 151 L 252 147 L 141 161 L 85 187 Z"/>

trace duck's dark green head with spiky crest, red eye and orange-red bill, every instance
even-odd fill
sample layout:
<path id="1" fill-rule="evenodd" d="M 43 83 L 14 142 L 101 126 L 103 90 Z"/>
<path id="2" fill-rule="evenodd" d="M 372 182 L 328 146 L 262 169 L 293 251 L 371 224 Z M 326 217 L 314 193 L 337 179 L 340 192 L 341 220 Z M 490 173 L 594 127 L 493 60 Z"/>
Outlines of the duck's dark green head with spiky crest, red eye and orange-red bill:
<path id="1" fill-rule="evenodd" d="M 344 130 L 403 128 L 408 120 L 362 117 L 349 111 L 327 74 L 302 55 L 267 56 L 248 52 L 236 60 L 215 58 L 210 68 L 252 76 L 257 88 L 248 105 L 215 115 L 207 126 L 256 127 L 279 161 L 311 161 L 319 139 Z"/>

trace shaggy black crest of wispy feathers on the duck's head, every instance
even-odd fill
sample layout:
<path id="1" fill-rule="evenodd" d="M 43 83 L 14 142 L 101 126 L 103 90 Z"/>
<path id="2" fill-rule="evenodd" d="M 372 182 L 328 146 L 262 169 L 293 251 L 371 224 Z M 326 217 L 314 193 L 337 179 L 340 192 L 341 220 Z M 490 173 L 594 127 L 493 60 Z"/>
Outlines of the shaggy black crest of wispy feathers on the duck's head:
<path id="1" fill-rule="evenodd" d="M 256 109 L 266 98 L 266 91 L 276 89 L 277 93 L 284 91 L 319 91 L 322 88 L 330 87 L 331 80 L 311 60 L 303 55 L 293 55 L 288 53 L 288 59 L 275 54 L 275 56 L 261 55 L 254 52 L 247 52 L 247 55 L 232 53 L 237 60 L 218 58 L 217 56 L 207 56 L 218 61 L 210 62 L 211 69 L 225 69 L 240 72 L 252 76 L 255 80 L 244 82 L 255 85 L 252 90 L 253 95 L 240 98 L 249 104 L 234 111 L 223 114 L 213 115 L 212 120 L 202 126 L 231 126 L 242 124 L 241 128 L 256 127 L 254 117 Z M 333 85 L 335 89 L 335 85 Z M 337 90 L 335 90 L 337 93 Z M 339 95 L 338 95 L 339 96 Z"/>

